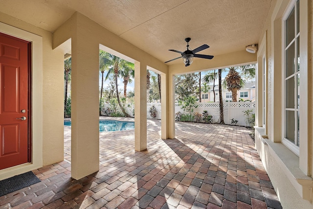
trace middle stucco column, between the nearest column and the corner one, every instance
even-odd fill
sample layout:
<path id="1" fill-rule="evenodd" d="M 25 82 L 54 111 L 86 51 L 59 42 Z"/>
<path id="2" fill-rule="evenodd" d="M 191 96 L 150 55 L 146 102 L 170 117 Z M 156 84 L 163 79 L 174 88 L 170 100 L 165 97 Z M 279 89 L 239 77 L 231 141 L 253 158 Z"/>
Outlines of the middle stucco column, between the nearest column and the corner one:
<path id="1" fill-rule="evenodd" d="M 147 149 L 147 65 L 135 62 L 135 151 Z"/>

